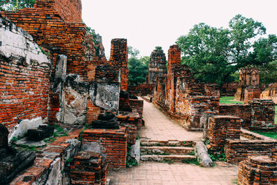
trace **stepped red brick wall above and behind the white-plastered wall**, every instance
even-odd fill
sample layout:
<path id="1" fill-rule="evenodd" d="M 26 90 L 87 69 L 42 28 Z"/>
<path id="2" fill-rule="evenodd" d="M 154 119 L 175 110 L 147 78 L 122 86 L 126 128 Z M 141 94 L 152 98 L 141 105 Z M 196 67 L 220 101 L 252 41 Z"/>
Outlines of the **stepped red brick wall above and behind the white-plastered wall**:
<path id="1" fill-rule="evenodd" d="M 1 12 L 1 15 L 33 35 L 39 46 L 67 55 L 67 73 L 79 74 L 81 81 L 87 80 L 82 46 L 85 24 L 65 23 L 57 11 L 48 8 L 24 8 L 17 12 Z"/>

